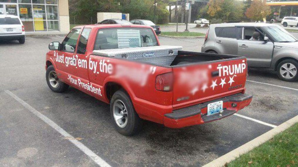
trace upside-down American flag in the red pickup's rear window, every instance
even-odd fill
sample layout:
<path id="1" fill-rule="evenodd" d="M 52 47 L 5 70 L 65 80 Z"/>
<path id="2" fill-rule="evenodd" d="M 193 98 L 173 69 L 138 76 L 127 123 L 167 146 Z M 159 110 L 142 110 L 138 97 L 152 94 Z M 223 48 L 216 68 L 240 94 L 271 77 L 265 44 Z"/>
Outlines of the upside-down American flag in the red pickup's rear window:
<path id="1" fill-rule="evenodd" d="M 139 30 L 117 30 L 118 47 L 141 47 Z"/>

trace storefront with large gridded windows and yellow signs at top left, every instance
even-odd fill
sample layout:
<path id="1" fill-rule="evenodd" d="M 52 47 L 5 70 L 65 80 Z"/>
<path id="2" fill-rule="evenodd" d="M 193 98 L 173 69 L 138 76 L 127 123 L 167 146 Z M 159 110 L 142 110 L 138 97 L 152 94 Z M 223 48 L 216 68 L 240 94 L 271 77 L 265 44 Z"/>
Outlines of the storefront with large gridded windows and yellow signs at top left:
<path id="1" fill-rule="evenodd" d="M 19 16 L 28 34 L 69 32 L 68 0 L 0 0 L 0 14 Z"/>

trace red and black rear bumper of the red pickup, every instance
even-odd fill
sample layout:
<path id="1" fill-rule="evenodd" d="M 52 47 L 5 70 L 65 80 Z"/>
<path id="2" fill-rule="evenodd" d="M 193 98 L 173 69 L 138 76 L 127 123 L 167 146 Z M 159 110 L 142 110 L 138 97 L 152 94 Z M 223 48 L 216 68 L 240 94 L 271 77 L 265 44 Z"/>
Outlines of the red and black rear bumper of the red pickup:
<path id="1" fill-rule="evenodd" d="M 223 101 L 224 111 L 222 113 L 207 116 L 207 105 L 209 103 L 221 100 Z M 164 125 L 169 128 L 183 128 L 186 126 L 220 120 L 248 106 L 251 101 L 252 95 L 237 93 L 235 95 L 218 98 L 203 104 L 197 104 L 194 106 L 173 110 L 171 113 L 164 114 Z M 232 103 L 237 104 L 237 106 L 232 107 Z"/>

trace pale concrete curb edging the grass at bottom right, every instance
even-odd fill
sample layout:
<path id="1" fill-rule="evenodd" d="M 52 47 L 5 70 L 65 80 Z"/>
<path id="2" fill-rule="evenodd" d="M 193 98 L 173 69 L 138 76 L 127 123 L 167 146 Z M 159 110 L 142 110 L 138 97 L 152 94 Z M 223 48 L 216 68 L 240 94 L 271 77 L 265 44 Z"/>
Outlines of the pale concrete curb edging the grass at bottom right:
<path id="1" fill-rule="evenodd" d="M 257 146 L 265 143 L 266 141 L 270 140 L 276 134 L 286 130 L 287 128 L 291 127 L 292 125 L 294 125 L 297 122 L 298 122 L 298 115 L 295 116 L 294 118 L 291 118 L 290 120 L 280 124 L 276 128 L 273 128 L 270 131 L 262 134 L 261 136 L 259 136 L 255 139 L 243 144 L 242 146 L 240 146 L 240 147 L 226 153 L 225 155 L 223 155 L 223 156 L 221 156 L 221 157 L 207 163 L 203 167 L 209 167 L 209 166 L 210 167 L 211 166 L 212 167 L 221 167 L 221 166 L 224 166 L 226 163 L 229 163 L 232 160 L 235 160 L 240 155 L 252 150 L 254 147 L 257 147 Z"/>

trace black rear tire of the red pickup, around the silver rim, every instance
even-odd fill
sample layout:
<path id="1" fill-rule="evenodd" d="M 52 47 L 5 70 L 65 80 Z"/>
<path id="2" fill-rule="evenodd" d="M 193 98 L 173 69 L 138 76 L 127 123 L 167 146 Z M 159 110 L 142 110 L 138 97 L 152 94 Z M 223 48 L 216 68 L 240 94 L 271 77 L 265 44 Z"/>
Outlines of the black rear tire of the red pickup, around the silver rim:
<path id="1" fill-rule="evenodd" d="M 120 127 L 121 125 L 118 125 L 116 123 L 116 118 L 114 118 L 114 112 L 113 112 L 114 104 L 119 102 L 122 102 L 125 105 L 124 108 L 126 109 L 126 113 L 127 113 L 126 114 L 127 120 L 126 118 L 124 118 L 124 120 L 127 121 L 127 123 L 124 127 Z M 117 104 L 115 104 L 115 106 L 117 106 Z M 114 127 L 122 135 L 132 136 L 138 133 L 139 130 L 142 128 L 142 119 L 136 113 L 129 95 L 124 90 L 122 89 L 117 90 L 112 96 L 110 112 L 111 112 L 111 120 L 114 124 Z M 115 109 L 115 112 L 117 112 L 116 109 Z M 123 119 L 122 119 L 122 122 L 123 122 Z"/>

